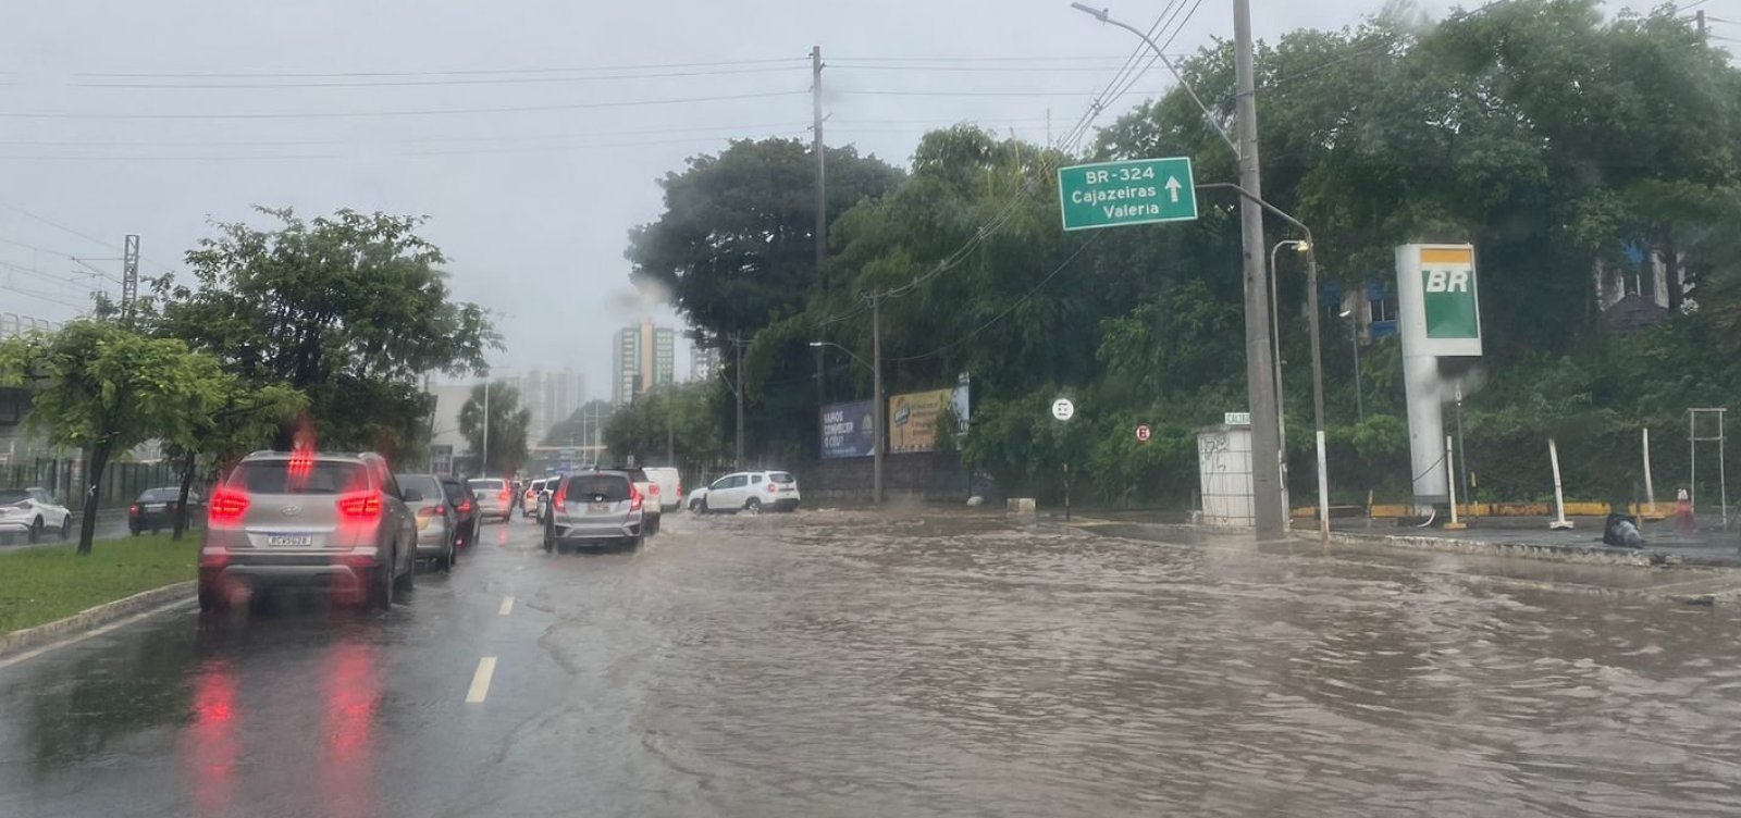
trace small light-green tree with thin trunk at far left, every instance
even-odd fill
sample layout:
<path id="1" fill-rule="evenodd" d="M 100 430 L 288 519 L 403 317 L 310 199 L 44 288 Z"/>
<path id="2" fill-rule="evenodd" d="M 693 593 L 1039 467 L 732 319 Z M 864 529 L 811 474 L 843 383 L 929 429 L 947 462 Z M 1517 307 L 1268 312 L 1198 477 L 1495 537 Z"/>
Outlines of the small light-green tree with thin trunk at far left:
<path id="1" fill-rule="evenodd" d="M 56 444 L 85 451 L 78 553 L 91 553 L 96 489 L 110 459 L 186 430 L 188 418 L 221 404 L 223 383 L 218 359 L 108 322 L 73 320 L 54 334 L 0 341 L 0 385 L 35 392 L 30 423 L 45 426 Z"/>

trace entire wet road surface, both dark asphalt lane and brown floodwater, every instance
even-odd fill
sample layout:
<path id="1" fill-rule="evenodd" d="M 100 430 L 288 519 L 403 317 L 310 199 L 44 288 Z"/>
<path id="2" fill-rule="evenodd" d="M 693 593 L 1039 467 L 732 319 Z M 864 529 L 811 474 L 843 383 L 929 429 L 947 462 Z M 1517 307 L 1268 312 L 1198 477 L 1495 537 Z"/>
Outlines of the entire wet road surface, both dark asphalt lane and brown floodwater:
<path id="1" fill-rule="evenodd" d="M 0 815 L 1741 813 L 1725 604 L 954 513 L 533 543 L 0 660 Z"/>

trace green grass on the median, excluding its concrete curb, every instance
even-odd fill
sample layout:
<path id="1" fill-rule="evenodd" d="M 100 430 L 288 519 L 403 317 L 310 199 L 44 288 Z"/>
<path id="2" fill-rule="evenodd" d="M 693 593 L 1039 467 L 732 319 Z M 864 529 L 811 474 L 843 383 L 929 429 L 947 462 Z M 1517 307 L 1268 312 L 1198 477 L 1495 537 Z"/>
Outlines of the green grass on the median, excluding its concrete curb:
<path id="1" fill-rule="evenodd" d="M 193 580 L 200 538 L 169 534 L 97 540 L 80 557 L 73 545 L 0 552 L 0 634 L 63 620 L 85 607 Z"/>

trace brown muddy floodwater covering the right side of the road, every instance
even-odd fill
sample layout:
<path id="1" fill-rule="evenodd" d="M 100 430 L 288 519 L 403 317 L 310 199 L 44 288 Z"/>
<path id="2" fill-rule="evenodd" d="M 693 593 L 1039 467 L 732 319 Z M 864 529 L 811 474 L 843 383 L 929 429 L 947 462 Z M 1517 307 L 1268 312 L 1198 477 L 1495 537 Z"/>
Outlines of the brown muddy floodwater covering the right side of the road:
<path id="1" fill-rule="evenodd" d="M 1741 815 L 1727 607 L 998 519 L 695 529 L 623 681 L 723 813 Z"/>

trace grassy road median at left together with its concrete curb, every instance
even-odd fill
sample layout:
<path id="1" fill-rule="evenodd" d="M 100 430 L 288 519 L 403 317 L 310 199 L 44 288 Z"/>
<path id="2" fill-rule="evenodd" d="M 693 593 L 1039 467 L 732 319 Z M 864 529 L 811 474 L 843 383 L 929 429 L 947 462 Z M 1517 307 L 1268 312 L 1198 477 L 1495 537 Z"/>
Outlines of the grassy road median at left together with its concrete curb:
<path id="1" fill-rule="evenodd" d="M 197 560 L 198 538 L 167 534 L 0 553 L 0 654 L 192 595 Z"/>

